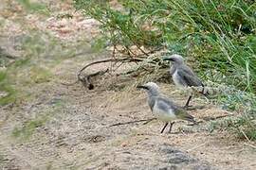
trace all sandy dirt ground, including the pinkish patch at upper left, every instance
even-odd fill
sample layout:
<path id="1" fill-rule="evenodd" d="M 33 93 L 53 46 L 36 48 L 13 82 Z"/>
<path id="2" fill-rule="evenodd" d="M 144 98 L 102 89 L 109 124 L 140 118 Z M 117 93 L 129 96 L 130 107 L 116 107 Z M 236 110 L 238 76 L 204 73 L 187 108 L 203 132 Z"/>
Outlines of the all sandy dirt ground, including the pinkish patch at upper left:
<path id="1" fill-rule="evenodd" d="M 9 16 L 4 5 L 3 35 L 27 34 L 23 26 L 13 23 L 17 16 Z M 62 10 L 56 10 L 57 14 L 74 12 L 70 4 L 63 3 L 58 8 Z M 91 41 L 99 33 L 98 24 L 81 14 L 57 19 L 56 13 L 44 19 L 38 19 L 37 14 L 25 15 L 27 22 L 36 18 L 32 23 L 37 29 L 49 31 L 60 41 L 77 42 L 81 40 L 79 35 L 86 35 L 83 38 Z M 1 42 L 2 46 L 8 44 Z M 89 45 L 85 49 L 87 53 L 82 56 L 62 59 L 48 67 L 53 74 L 48 81 L 22 88 L 33 97 L 0 108 L 1 169 L 256 169 L 255 148 L 227 131 L 209 130 L 210 121 L 206 119 L 236 113 L 220 110 L 203 97 L 192 100 L 192 105 L 205 105 L 202 110 L 190 111 L 202 121 L 196 126 L 177 122 L 171 134 L 160 133 L 163 123 L 159 121 L 111 127 L 152 118 L 146 93 L 123 87 L 123 82 L 133 84 L 135 79 L 123 77 L 124 81 L 110 75 L 103 76 L 92 91 L 82 84 L 65 86 L 63 82 L 76 80 L 83 65 L 108 57 L 108 53 L 92 53 Z M 178 104 L 184 103 L 186 95 L 173 85 L 158 84 Z"/>

